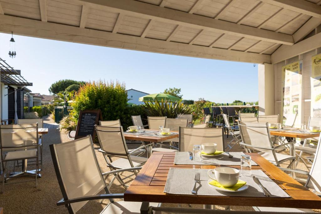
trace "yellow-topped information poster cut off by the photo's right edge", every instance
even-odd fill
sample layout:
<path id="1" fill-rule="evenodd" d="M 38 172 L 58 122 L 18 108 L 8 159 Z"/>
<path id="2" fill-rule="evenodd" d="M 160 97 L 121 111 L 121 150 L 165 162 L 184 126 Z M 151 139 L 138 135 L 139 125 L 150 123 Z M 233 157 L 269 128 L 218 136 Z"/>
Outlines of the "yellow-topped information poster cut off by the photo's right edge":
<path id="1" fill-rule="evenodd" d="M 311 115 L 321 117 L 321 54 L 312 56 Z"/>

